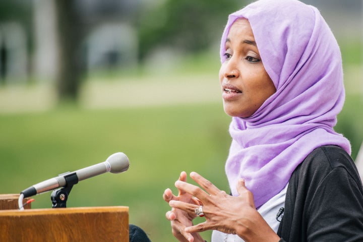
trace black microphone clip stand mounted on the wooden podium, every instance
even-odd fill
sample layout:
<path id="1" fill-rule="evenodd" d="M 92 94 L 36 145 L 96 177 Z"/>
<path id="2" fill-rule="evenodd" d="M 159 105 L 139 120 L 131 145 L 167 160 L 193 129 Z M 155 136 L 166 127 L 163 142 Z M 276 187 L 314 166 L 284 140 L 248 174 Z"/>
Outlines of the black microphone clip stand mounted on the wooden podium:
<path id="1" fill-rule="evenodd" d="M 68 172 L 69 173 L 69 172 Z M 64 175 L 65 173 L 61 174 Z M 50 199 L 52 201 L 52 208 L 66 208 L 68 196 L 71 193 L 73 185 L 78 183 L 78 176 L 76 172 L 64 176 L 66 179 L 66 186 L 54 190 L 51 193 Z"/>

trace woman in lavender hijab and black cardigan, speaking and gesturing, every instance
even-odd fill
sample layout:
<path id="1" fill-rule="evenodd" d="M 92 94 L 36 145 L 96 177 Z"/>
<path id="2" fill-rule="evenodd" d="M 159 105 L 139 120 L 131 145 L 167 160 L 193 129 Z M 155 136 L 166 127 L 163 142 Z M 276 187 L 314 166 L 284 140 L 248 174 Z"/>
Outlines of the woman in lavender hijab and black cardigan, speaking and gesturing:
<path id="1" fill-rule="evenodd" d="M 339 46 L 320 12 L 260 0 L 231 15 L 219 81 L 232 142 L 230 195 L 181 172 L 166 213 L 179 241 L 363 241 L 363 189 L 349 141 L 333 127 L 343 107 Z M 205 221 L 193 224 L 193 219 Z M 209 238 L 208 238 L 209 240 Z"/>

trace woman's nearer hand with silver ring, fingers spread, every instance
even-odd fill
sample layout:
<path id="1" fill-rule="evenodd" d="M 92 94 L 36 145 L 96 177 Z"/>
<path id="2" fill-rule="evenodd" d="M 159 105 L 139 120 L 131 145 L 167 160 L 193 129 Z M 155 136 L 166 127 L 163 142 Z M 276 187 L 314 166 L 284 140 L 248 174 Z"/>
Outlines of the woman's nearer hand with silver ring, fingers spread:
<path id="1" fill-rule="evenodd" d="M 232 197 L 219 190 L 209 180 L 196 172 L 190 176 L 201 188 L 178 180 L 175 187 L 180 192 L 195 196 L 203 204 L 206 221 L 185 228 L 187 233 L 196 233 L 209 229 L 228 234 L 238 234 L 245 241 L 279 241 L 278 235 L 271 229 L 255 208 L 253 194 L 246 188 L 244 179 L 237 184 L 239 196 Z M 202 190 L 203 189 L 203 190 Z M 170 200 L 173 209 L 180 209 L 193 214 L 198 204 Z"/>

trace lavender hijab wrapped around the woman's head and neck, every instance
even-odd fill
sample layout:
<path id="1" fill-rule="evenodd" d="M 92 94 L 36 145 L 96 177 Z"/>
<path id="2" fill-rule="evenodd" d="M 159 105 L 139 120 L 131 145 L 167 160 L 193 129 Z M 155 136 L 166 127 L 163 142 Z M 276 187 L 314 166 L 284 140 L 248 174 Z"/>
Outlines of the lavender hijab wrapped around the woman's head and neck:
<path id="1" fill-rule="evenodd" d="M 260 0 L 228 18 L 249 20 L 276 93 L 250 117 L 233 117 L 225 170 L 234 196 L 245 178 L 260 207 L 288 183 L 293 170 L 315 148 L 350 144 L 333 127 L 344 103 L 339 46 L 319 11 L 296 0 Z"/>

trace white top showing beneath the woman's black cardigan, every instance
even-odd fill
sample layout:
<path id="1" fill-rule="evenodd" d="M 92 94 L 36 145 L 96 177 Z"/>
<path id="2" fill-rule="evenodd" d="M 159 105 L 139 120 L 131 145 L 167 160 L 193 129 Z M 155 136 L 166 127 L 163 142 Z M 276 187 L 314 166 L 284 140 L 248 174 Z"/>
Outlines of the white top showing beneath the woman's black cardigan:
<path id="1" fill-rule="evenodd" d="M 288 184 L 287 184 L 288 185 Z M 257 211 L 266 220 L 268 225 L 277 232 L 280 222 L 276 220 L 276 215 L 281 207 L 285 206 L 285 198 L 287 185 L 282 191 L 263 204 Z M 220 231 L 214 230 L 212 233 L 212 242 L 244 242 L 238 235 L 226 234 Z"/>

